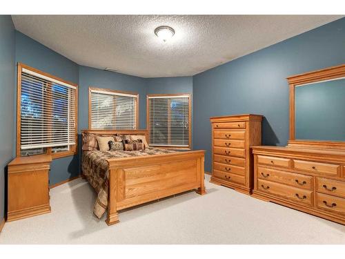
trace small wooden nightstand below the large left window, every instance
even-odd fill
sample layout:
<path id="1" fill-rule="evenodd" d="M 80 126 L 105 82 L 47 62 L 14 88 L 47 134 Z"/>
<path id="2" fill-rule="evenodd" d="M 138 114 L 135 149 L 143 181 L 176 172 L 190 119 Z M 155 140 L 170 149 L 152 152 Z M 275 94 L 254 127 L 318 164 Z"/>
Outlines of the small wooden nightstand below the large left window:
<path id="1" fill-rule="evenodd" d="M 51 211 L 48 175 L 51 155 L 17 157 L 8 164 L 7 221 Z"/>

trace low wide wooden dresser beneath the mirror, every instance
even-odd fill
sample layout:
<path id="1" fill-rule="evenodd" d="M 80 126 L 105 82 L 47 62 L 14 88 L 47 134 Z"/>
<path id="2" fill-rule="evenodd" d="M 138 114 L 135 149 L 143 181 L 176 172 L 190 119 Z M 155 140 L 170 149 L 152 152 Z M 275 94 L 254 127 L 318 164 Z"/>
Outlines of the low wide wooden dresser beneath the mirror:
<path id="1" fill-rule="evenodd" d="M 253 146 L 253 196 L 345 224 L 345 151 Z"/>

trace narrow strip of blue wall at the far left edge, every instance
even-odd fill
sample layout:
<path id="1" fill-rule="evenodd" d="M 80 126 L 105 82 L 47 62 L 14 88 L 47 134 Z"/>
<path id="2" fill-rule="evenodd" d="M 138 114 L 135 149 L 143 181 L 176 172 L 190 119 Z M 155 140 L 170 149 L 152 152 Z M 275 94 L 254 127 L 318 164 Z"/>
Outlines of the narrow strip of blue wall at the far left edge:
<path id="1" fill-rule="evenodd" d="M 0 223 L 5 215 L 5 170 L 14 157 L 14 26 L 10 15 L 0 15 Z"/>

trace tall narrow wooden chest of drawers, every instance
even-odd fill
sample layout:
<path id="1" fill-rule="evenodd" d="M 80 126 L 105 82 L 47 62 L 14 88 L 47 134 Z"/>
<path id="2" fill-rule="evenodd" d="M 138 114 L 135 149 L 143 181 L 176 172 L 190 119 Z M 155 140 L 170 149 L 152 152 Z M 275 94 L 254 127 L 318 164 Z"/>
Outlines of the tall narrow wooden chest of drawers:
<path id="1" fill-rule="evenodd" d="M 262 141 L 262 115 L 211 117 L 213 169 L 210 182 L 250 194 L 253 155 L 250 146 Z"/>

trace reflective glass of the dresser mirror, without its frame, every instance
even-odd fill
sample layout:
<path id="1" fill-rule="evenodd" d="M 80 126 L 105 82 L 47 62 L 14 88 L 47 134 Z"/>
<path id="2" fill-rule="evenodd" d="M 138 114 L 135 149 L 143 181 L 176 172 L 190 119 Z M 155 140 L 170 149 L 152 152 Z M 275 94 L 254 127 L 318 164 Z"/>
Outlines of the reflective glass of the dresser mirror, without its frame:
<path id="1" fill-rule="evenodd" d="M 295 86 L 295 139 L 345 141 L 345 78 Z"/>

